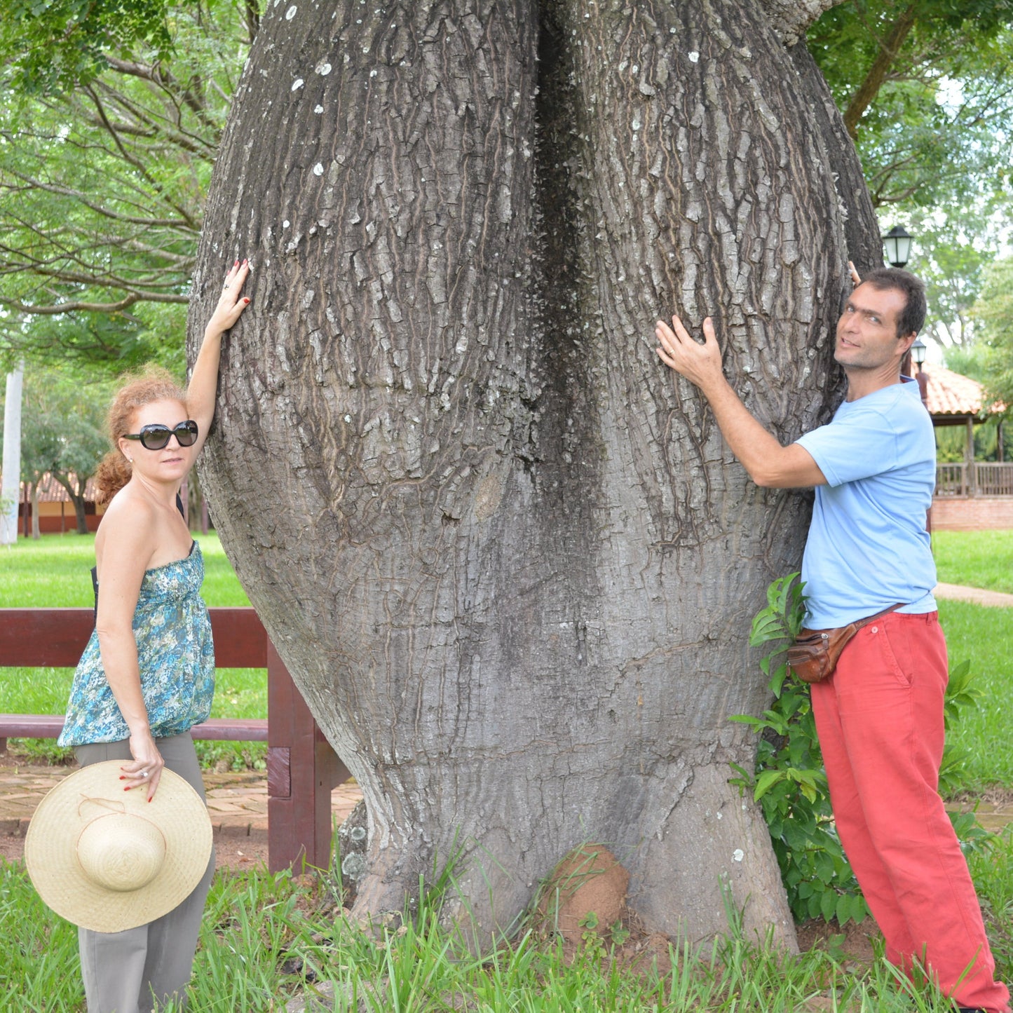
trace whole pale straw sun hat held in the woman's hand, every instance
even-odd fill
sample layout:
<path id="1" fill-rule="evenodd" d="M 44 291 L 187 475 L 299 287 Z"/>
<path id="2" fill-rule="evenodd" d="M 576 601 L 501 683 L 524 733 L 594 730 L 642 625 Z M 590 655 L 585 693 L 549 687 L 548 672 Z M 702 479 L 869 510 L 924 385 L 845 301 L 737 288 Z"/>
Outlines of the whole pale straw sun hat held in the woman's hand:
<path id="1" fill-rule="evenodd" d="M 124 791 L 123 761 L 91 764 L 38 804 L 24 863 L 38 895 L 67 921 L 95 932 L 153 922 L 185 900 L 211 857 L 201 796 L 162 770 L 155 797 Z"/>

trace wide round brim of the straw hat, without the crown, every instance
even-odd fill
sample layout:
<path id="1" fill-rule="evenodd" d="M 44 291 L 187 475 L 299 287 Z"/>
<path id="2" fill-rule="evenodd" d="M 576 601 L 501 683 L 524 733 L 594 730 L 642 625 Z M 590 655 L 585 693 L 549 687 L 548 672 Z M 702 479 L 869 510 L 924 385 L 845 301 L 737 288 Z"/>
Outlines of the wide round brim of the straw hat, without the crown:
<path id="1" fill-rule="evenodd" d="M 183 778 L 163 769 L 149 803 L 146 791 L 124 791 L 122 766 L 106 760 L 64 778 L 40 802 L 24 840 L 24 864 L 38 895 L 67 921 L 94 932 L 123 932 L 168 914 L 201 881 L 214 843 L 208 807 Z M 102 887 L 77 859 L 82 830 L 110 811 L 148 820 L 165 839 L 161 868 L 139 889 Z"/>

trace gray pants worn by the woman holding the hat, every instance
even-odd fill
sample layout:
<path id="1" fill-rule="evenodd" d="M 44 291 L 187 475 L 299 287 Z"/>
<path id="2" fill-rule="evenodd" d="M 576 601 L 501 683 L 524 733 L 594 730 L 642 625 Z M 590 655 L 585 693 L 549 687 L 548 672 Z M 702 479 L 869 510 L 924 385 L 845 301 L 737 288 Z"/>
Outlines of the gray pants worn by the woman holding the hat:
<path id="1" fill-rule="evenodd" d="M 204 783 L 189 734 L 156 738 L 165 766 L 191 785 L 202 798 Z M 102 760 L 130 760 L 130 746 L 95 743 L 76 746 L 82 767 Z M 193 892 L 167 915 L 126 932 L 77 930 L 81 977 L 88 1013 L 150 1013 L 155 1000 L 185 1001 L 201 931 L 201 916 L 215 874 L 215 853 Z"/>

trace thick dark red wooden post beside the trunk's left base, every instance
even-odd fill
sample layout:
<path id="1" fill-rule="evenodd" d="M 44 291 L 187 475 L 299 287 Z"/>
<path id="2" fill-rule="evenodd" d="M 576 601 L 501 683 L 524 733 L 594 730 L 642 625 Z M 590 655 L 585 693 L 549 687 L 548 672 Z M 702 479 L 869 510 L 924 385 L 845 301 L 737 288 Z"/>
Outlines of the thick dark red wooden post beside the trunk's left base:
<path id="1" fill-rule="evenodd" d="M 348 779 L 267 640 L 267 867 L 330 864 L 330 792 Z"/>

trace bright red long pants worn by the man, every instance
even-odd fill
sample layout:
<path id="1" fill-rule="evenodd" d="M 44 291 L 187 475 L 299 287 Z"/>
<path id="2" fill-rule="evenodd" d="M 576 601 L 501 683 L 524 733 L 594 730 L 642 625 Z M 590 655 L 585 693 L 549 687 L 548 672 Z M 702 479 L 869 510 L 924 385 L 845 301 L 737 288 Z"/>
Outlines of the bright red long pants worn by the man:
<path id="1" fill-rule="evenodd" d="M 946 642 L 938 613 L 893 612 L 859 630 L 812 687 L 841 843 L 886 939 L 927 963 L 960 1006 L 1009 1010 L 995 981 L 967 863 L 939 797 Z"/>

